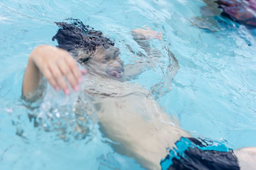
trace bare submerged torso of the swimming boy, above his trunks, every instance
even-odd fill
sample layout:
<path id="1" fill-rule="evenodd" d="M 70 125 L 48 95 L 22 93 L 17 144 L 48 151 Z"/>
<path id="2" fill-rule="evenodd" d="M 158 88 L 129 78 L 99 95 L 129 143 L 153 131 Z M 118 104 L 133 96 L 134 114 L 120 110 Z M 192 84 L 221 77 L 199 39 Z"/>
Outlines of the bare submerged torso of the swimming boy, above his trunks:
<path id="1" fill-rule="evenodd" d="M 150 93 L 132 83 L 86 76 L 86 94 L 97 109 L 100 131 L 116 152 L 147 169 L 161 169 L 160 162 L 180 137 L 189 137 L 165 113 Z"/>

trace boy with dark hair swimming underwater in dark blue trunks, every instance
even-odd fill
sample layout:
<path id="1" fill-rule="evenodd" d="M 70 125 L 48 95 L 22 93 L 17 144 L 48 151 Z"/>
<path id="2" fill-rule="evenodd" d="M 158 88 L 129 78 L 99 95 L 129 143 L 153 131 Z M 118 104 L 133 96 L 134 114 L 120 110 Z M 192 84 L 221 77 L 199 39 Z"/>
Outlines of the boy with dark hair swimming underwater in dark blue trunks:
<path id="1" fill-rule="evenodd" d="M 93 103 L 97 106 L 100 131 L 115 142 L 111 145 L 116 152 L 131 157 L 147 169 L 161 169 L 160 162 L 169 152 L 166 148 L 173 148 L 177 141 L 188 139 L 196 146 L 200 145 L 200 141 L 191 138 L 188 132 L 180 129 L 178 122 L 161 110 L 147 90 L 125 82 L 129 80 L 129 76 L 141 73 L 141 69 L 138 69 L 141 68 L 140 64 L 123 66 L 114 43 L 102 36 L 100 31 L 94 31 L 79 20 L 75 20 L 73 24 L 59 22 L 57 25 L 60 29 L 53 39 L 57 39 L 60 48 L 38 46 L 29 56 L 22 85 L 22 95 L 25 99 L 35 101 L 42 96 L 44 89 L 40 88 L 40 83 L 43 76 L 54 89 L 62 89 L 65 94 L 70 94 L 70 89 L 64 77 L 73 90 L 79 90 L 79 83 L 83 81 L 83 74 L 86 71 L 79 69 L 77 60 L 88 70 L 85 77 L 88 87 L 84 92 L 93 97 Z M 148 45 L 148 40 L 162 39 L 162 34 L 152 29 L 134 29 L 132 36 L 138 45 L 143 46 L 148 55 L 154 53 Z M 161 55 L 161 52 L 158 53 Z M 177 60 L 174 58 L 173 60 L 173 64 L 177 65 Z M 179 66 L 175 68 L 179 69 Z M 108 88 L 105 87 L 106 85 Z M 239 169 L 239 166 L 256 167 L 253 162 L 256 159 L 255 148 L 241 148 L 234 152 L 232 150 L 212 152 L 191 147 L 186 154 L 195 155 L 186 164 L 184 163 L 188 166 L 200 161 L 204 154 L 211 154 L 209 160 L 204 160 L 206 163 L 201 160 L 202 164 L 198 162 L 195 166 L 230 167 L 231 165 L 233 169 Z M 227 161 L 220 162 L 220 159 Z M 182 166 L 186 168 L 179 160 L 177 165 L 178 167 L 170 166 L 170 169 L 181 169 Z"/>

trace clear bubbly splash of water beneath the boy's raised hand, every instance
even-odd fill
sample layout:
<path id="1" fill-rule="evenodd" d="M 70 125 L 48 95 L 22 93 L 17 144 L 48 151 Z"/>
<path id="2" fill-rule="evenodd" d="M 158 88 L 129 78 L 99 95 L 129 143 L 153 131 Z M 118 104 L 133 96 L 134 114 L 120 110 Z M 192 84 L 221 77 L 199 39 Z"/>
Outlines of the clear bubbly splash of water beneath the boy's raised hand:
<path id="1" fill-rule="evenodd" d="M 86 82 L 81 84 L 79 92 L 66 96 L 56 92 L 49 83 L 45 96 L 38 109 L 32 111 L 38 126 L 44 131 L 57 132 L 58 138 L 68 141 L 70 138 L 84 139 L 92 135 L 97 118 L 90 98 L 83 92 Z"/>

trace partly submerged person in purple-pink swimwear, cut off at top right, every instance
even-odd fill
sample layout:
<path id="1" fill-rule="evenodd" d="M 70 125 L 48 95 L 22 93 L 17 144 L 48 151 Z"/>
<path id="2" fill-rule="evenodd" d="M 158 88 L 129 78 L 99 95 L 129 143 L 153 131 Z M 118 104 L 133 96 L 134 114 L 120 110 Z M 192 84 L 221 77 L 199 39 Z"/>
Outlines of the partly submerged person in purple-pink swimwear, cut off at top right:
<path id="1" fill-rule="evenodd" d="M 193 25 L 209 31 L 221 31 L 218 24 L 218 16 L 234 20 L 240 24 L 246 25 L 249 29 L 256 27 L 256 0 L 204 0 L 206 6 L 200 8 L 202 16 L 191 20 Z"/>

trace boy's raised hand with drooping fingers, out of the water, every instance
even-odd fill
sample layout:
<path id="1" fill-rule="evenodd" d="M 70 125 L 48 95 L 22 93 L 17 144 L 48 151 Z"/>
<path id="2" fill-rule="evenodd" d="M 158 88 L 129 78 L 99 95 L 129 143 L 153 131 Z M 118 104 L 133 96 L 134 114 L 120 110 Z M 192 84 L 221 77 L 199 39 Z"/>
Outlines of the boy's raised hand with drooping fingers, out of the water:
<path id="1" fill-rule="evenodd" d="M 77 91 L 79 83 L 83 81 L 83 74 L 86 73 L 86 70 L 79 69 L 67 51 L 49 45 L 36 47 L 29 56 L 29 64 L 35 64 L 52 87 L 62 89 L 65 94 L 70 94 L 65 78 L 72 89 Z"/>

